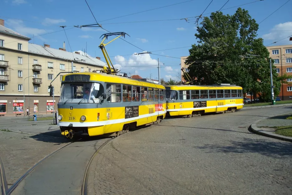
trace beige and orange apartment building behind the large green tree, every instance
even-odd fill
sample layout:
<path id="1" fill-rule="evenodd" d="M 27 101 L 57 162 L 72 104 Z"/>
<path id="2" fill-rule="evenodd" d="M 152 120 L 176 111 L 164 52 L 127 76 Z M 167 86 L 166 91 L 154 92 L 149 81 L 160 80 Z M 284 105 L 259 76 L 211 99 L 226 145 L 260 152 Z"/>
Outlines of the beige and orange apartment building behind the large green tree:
<path id="1" fill-rule="evenodd" d="M 270 57 L 274 60 L 277 73 L 279 75 L 292 75 L 292 45 L 267 46 L 266 48 L 270 52 Z M 185 65 L 187 57 L 181 57 L 181 68 L 184 68 L 185 71 L 188 71 L 188 66 Z M 184 80 L 182 71 L 181 78 Z M 278 95 L 281 100 L 292 100 L 292 79 L 287 81 L 288 83 L 291 82 L 291 85 L 281 85 L 280 94 Z M 251 93 L 247 93 L 246 97 L 251 98 L 251 95 Z"/>

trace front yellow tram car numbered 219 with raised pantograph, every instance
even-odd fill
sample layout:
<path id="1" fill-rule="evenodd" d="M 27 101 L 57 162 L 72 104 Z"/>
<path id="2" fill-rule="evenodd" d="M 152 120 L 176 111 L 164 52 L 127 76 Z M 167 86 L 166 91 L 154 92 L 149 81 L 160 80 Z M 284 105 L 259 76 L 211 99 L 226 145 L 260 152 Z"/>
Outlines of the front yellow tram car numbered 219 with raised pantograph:
<path id="1" fill-rule="evenodd" d="M 70 138 L 78 131 L 119 135 L 165 117 L 165 87 L 104 73 L 70 73 L 63 76 L 57 115 L 61 134 Z"/>

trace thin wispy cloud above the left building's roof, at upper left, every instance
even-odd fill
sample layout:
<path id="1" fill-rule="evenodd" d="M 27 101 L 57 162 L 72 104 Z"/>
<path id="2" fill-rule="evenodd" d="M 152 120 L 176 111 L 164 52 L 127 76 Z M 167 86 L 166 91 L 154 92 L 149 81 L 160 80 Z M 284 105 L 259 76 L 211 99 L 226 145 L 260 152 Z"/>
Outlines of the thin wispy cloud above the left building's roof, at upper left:
<path id="1" fill-rule="evenodd" d="M 12 30 L 25 36 L 30 36 L 30 35 L 38 36 L 41 34 L 45 34 L 46 32 L 50 32 L 45 29 L 26 27 L 22 20 L 8 19 L 6 24 L 8 27 L 12 28 Z M 38 37 L 38 38 L 41 39 L 41 37 Z"/>

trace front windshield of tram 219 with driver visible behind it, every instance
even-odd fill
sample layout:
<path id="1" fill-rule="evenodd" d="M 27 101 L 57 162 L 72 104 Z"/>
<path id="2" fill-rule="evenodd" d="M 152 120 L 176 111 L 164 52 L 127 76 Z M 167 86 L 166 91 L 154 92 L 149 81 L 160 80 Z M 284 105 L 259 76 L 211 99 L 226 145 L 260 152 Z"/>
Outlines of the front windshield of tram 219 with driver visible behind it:
<path id="1" fill-rule="evenodd" d="M 100 103 L 103 93 L 99 83 L 64 83 L 59 103 Z"/>

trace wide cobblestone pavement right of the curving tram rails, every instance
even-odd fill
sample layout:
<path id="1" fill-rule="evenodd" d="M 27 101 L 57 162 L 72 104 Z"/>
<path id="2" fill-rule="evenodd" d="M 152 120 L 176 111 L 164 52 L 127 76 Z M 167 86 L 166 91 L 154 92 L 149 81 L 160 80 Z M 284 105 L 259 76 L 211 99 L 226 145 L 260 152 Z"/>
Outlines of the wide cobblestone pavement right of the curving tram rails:
<path id="1" fill-rule="evenodd" d="M 89 194 L 292 194 L 292 144 L 248 131 L 291 111 L 180 118 L 122 135 L 94 158 Z"/>

